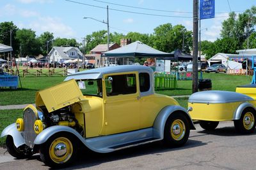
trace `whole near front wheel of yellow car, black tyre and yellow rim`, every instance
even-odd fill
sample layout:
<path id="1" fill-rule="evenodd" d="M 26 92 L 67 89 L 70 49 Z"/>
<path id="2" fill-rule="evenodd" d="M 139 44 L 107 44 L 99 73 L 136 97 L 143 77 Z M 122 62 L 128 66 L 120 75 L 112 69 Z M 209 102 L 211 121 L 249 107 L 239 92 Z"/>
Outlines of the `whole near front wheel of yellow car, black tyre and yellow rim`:
<path id="1" fill-rule="evenodd" d="M 73 138 L 72 138 L 73 137 Z M 40 146 L 40 158 L 50 167 L 70 165 L 76 157 L 76 140 L 67 133 L 54 134 Z"/>

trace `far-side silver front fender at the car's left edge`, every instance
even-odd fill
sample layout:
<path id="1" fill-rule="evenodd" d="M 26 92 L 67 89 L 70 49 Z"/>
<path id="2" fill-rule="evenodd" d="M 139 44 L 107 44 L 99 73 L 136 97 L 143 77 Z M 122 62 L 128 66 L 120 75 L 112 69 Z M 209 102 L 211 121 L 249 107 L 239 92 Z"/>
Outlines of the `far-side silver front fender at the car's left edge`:
<path id="1" fill-rule="evenodd" d="M 8 125 L 8 127 L 4 128 L 3 132 L 1 132 L 1 138 L 8 135 L 12 136 L 13 143 L 16 148 L 25 144 L 25 139 L 22 136 L 22 132 L 17 131 L 15 123 Z"/>

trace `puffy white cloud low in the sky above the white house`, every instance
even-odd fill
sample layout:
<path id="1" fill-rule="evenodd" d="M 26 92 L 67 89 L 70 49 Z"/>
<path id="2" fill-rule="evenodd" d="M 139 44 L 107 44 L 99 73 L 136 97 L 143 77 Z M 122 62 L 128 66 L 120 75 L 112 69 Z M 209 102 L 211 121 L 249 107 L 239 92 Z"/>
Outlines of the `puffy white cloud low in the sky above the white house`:
<path id="1" fill-rule="evenodd" d="M 70 37 L 75 32 L 71 27 L 61 22 L 60 18 L 39 17 L 38 20 L 29 24 L 29 28 L 40 34 L 45 31 L 52 32 L 54 37 Z"/>

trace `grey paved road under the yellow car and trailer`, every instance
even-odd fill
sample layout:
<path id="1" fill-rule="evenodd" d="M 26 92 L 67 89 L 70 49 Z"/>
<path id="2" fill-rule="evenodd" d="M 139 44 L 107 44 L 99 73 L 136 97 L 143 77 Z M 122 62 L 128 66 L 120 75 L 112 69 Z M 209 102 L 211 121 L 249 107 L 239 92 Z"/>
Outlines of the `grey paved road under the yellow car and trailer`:
<path id="1" fill-rule="evenodd" d="M 161 142 L 113 153 L 79 152 L 68 169 L 255 169 L 256 132 L 238 134 L 233 122 L 221 122 L 212 132 L 198 124 L 188 143 L 181 148 L 166 148 Z M 0 169 L 49 169 L 39 155 L 15 160 L 0 149 Z"/>

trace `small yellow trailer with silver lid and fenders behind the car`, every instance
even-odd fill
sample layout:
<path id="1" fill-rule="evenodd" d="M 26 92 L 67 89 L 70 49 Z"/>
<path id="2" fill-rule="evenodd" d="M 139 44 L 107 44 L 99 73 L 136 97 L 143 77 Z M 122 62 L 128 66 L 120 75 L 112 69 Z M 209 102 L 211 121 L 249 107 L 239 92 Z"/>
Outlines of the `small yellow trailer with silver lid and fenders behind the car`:
<path id="1" fill-rule="evenodd" d="M 232 120 L 238 132 L 252 133 L 256 118 L 255 90 L 245 86 L 237 87 L 236 92 L 196 92 L 188 100 L 189 115 L 208 131 L 214 130 L 220 121 Z"/>

